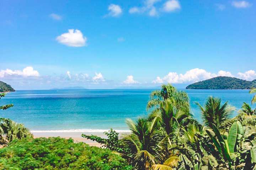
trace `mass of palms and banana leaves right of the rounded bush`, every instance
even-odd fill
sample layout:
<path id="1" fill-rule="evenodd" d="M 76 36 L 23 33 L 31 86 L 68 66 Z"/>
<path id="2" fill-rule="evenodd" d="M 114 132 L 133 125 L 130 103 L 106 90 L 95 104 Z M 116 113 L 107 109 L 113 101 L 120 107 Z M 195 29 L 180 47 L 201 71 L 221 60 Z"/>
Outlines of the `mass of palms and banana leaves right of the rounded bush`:
<path id="1" fill-rule="evenodd" d="M 163 85 L 150 96 L 148 117 L 127 119 L 130 134 L 115 132 L 111 143 L 118 149 L 112 150 L 137 170 L 256 169 L 256 108 L 244 103 L 232 118 L 235 108 L 219 98 L 196 104 L 202 123 L 190 114 L 185 92 Z M 110 142 L 105 146 L 112 148 Z"/>

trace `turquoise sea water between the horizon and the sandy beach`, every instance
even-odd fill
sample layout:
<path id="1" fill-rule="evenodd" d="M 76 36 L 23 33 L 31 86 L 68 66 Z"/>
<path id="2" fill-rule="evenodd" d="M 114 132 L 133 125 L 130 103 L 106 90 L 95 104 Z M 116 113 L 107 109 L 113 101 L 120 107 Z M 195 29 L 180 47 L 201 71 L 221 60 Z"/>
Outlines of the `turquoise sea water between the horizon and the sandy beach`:
<path id="1" fill-rule="evenodd" d="M 0 116 L 25 124 L 36 131 L 70 130 L 104 131 L 110 128 L 127 130 L 126 118 L 144 116 L 146 103 L 153 90 L 20 90 L 0 100 L 0 105 L 14 107 L 0 111 Z M 239 109 L 250 103 L 248 90 L 185 90 L 190 97 L 191 112 L 201 121 L 199 102 L 208 96 L 220 97 Z M 234 113 L 236 114 L 236 112 Z"/>

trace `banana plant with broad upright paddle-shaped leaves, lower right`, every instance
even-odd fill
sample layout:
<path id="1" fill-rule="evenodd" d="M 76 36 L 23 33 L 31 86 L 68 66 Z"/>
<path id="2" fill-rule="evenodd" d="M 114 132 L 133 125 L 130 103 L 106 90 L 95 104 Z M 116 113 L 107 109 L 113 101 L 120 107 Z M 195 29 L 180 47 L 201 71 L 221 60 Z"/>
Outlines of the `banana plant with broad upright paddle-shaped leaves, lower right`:
<path id="1" fill-rule="evenodd" d="M 213 130 L 207 129 L 206 132 L 223 158 L 226 167 L 230 169 L 234 164 L 233 160 L 236 158 L 235 152 L 239 147 L 239 141 L 244 135 L 242 124 L 240 121 L 235 121 L 229 132 L 224 132 L 223 135 L 220 134 L 215 125 L 213 125 Z"/>

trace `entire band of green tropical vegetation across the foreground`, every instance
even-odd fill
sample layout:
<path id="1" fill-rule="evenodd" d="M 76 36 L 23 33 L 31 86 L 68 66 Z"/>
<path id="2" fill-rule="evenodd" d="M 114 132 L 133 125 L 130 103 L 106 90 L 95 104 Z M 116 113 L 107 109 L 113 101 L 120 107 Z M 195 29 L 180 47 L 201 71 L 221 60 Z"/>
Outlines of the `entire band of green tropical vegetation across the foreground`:
<path id="1" fill-rule="evenodd" d="M 235 108 L 220 98 L 196 104 L 202 122 L 193 118 L 186 92 L 162 85 L 150 96 L 147 117 L 126 120 L 130 133 L 111 129 L 107 138 L 82 134 L 103 149 L 59 137 L 33 139 L 24 126 L 2 118 L 0 142 L 6 147 L 0 149 L 0 168 L 256 170 L 254 105 L 243 103 L 233 117 Z"/>

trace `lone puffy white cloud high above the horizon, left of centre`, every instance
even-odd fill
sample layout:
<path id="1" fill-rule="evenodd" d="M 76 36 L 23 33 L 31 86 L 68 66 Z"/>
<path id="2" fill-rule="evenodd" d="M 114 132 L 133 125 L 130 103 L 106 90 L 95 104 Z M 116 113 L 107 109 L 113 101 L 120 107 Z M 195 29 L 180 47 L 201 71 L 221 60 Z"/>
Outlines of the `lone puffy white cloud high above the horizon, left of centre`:
<path id="1" fill-rule="evenodd" d="M 71 47 L 86 46 L 87 38 L 83 36 L 82 32 L 78 29 L 69 29 L 68 33 L 64 33 L 56 38 L 56 40 L 64 45 Z"/>

